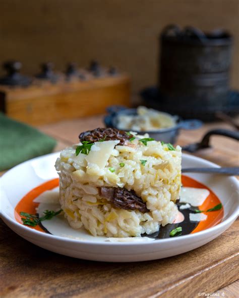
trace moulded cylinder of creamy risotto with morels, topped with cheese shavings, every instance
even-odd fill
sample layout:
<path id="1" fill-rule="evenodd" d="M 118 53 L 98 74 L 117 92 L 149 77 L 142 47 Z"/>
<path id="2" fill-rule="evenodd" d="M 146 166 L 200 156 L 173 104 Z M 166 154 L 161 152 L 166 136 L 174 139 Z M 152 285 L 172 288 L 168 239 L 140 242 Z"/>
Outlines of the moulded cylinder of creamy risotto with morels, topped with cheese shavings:
<path id="1" fill-rule="evenodd" d="M 93 236 L 159 231 L 177 214 L 181 147 L 113 128 L 80 134 L 56 160 L 60 203 L 69 224 Z"/>

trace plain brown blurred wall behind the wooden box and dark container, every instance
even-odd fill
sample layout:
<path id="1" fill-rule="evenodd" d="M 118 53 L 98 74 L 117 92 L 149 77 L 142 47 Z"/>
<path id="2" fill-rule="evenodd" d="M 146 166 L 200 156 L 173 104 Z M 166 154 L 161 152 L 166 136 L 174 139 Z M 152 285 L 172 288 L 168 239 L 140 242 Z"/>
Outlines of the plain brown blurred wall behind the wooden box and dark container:
<path id="1" fill-rule="evenodd" d="M 234 37 L 230 85 L 238 89 L 238 20 L 238 0 L 2 0 L 0 57 L 20 60 L 28 75 L 43 61 L 64 70 L 69 61 L 88 66 L 97 59 L 127 71 L 136 95 L 157 83 L 166 25 L 224 28 Z"/>

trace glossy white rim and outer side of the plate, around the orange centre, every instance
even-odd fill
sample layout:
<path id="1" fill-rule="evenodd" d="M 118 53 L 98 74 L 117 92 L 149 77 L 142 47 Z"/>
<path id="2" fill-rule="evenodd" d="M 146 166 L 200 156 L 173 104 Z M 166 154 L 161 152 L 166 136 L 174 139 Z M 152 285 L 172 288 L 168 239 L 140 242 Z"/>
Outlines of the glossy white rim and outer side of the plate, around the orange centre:
<path id="1" fill-rule="evenodd" d="M 0 215 L 5 223 L 24 239 L 47 250 L 86 260 L 134 262 L 166 258 L 198 248 L 212 241 L 230 227 L 238 215 L 238 181 L 234 177 L 209 174 L 188 176 L 208 186 L 221 200 L 224 217 L 207 230 L 175 238 L 140 242 L 107 242 L 104 237 L 82 234 L 84 239 L 71 239 L 42 233 L 17 222 L 14 208 L 31 189 L 56 178 L 54 163 L 59 153 L 27 161 L 8 171 L 1 179 Z M 183 155 L 183 167 L 215 167 L 206 160 Z M 81 235 L 80 235 L 81 236 Z"/>

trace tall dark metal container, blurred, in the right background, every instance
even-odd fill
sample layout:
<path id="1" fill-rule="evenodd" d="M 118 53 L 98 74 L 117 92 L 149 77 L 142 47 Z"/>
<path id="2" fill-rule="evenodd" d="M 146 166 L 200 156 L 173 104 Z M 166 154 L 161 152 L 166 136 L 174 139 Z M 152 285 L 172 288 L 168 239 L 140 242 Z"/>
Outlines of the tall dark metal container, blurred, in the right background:
<path id="1" fill-rule="evenodd" d="M 232 37 L 216 30 L 205 34 L 167 26 L 160 35 L 161 102 L 187 110 L 224 105 L 229 92 Z M 169 111 L 170 112 L 170 111 Z"/>

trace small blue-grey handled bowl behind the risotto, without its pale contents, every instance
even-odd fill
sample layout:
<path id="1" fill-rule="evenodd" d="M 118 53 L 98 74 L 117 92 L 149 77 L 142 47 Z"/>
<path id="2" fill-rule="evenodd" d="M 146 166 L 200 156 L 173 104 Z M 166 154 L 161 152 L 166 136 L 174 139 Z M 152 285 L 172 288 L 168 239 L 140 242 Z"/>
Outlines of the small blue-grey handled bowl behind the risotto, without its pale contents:
<path id="1" fill-rule="evenodd" d="M 109 106 L 106 111 L 108 115 L 104 118 L 104 124 L 106 127 L 117 127 L 117 118 L 120 115 L 137 115 L 137 109 L 128 109 L 124 106 Z M 165 143 L 175 143 L 177 136 L 180 132 L 180 129 L 197 129 L 200 128 L 203 124 L 202 121 L 192 119 L 192 120 L 182 120 L 178 116 L 173 116 L 177 119 L 176 125 L 169 128 L 161 128 L 158 130 L 151 130 L 151 131 L 135 131 L 138 134 L 148 133 L 150 137 L 154 138 L 157 141 L 163 141 Z M 124 129 L 125 131 L 130 131 Z"/>

